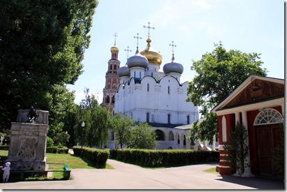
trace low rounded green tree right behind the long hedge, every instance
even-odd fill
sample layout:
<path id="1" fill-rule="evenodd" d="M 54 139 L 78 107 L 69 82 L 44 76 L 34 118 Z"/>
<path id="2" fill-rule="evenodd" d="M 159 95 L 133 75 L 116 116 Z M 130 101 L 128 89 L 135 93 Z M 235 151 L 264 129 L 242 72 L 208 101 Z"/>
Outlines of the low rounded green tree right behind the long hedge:
<path id="1" fill-rule="evenodd" d="M 156 133 L 148 124 L 138 124 L 131 128 L 131 135 L 126 146 L 133 149 L 154 149 L 156 147 Z"/>

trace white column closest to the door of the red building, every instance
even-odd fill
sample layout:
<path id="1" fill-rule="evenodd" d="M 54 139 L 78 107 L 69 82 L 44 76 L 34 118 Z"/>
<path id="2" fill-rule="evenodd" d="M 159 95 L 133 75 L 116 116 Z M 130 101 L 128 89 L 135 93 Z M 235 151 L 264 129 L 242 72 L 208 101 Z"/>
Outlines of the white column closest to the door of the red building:
<path id="1" fill-rule="evenodd" d="M 244 159 L 244 173 L 242 177 L 253 177 L 250 168 L 250 146 L 249 146 L 249 134 L 248 134 L 248 124 L 247 124 L 247 113 L 246 111 L 242 111 L 242 125 L 246 128 L 246 135 L 247 138 L 245 140 L 245 144 L 248 146 L 248 154 Z"/>

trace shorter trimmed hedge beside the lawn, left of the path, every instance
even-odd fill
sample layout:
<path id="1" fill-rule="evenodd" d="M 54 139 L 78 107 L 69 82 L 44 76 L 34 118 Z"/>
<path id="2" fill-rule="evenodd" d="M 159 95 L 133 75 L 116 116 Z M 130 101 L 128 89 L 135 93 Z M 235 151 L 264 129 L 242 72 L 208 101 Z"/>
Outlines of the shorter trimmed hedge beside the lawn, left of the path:
<path id="1" fill-rule="evenodd" d="M 89 147 L 82 147 L 81 149 L 79 146 L 74 146 L 73 151 L 75 156 L 81 156 L 82 152 L 82 158 L 91 161 L 96 168 L 105 168 L 105 163 L 110 155 L 108 149 L 95 149 Z"/>

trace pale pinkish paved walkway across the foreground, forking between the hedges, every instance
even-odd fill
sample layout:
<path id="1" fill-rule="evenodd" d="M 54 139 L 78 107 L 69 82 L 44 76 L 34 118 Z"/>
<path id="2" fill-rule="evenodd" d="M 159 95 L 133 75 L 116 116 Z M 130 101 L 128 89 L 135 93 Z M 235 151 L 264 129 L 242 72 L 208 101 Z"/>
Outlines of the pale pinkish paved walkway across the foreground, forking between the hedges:
<path id="1" fill-rule="evenodd" d="M 0 189 L 284 189 L 277 181 L 203 172 L 212 164 L 148 169 L 110 159 L 108 163 L 115 170 L 73 169 L 68 181 L 1 183 Z"/>

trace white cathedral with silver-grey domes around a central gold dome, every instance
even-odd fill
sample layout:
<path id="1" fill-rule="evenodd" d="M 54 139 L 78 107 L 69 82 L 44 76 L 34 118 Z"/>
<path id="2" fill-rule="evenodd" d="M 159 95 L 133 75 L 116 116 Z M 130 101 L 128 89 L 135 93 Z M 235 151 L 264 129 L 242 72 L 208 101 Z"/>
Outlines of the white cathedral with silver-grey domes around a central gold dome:
<path id="1" fill-rule="evenodd" d="M 134 121 L 147 122 L 156 132 L 156 149 L 191 149 L 191 124 L 198 119 L 198 107 L 186 102 L 188 82 L 180 82 L 184 67 L 172 59 L 161 68 L 161 54 L 147 47 L 128 57 L 126 66 L 118 69 L 119 87 L 115 92 L 114 114 L 131 117 Z M 172 42 L 173 46 L 173 42 Z M 116 46 L 111 51 L 117 51 Z M 110 137 L 109 148 L 115 148 Z"/>

